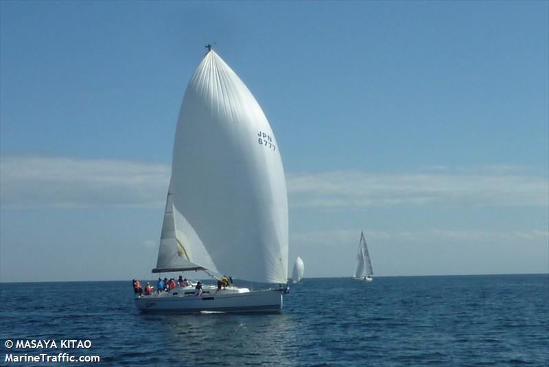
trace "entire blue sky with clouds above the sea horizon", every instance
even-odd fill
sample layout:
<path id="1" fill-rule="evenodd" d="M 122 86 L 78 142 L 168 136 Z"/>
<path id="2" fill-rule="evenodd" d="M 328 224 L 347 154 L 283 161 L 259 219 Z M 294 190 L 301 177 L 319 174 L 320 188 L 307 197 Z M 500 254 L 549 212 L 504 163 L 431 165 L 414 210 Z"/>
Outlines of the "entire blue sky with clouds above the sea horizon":
<path id="1" fill-rule="evenodd" d="M 277 137 L 290 267 L 549 272 L 547 1 L 1 1 L 0 281 L 151 278 L 204 45 Z M 289 269 L 291 274 L 292 269 Z"/>

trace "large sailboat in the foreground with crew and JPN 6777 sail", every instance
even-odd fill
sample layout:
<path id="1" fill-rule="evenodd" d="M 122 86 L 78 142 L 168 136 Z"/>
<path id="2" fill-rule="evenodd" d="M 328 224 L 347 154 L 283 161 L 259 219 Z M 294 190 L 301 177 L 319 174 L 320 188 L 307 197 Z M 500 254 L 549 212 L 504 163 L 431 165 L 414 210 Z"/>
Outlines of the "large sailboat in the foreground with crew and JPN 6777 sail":
<path id="1" fill-rule="evenodd" d="M 145 312 L 280 312 L 288 292 L 288 196 L 279 145 L 244 82 L 206 47 L 178 115 L 152 272 L 205 271 L 271 286 L 190 285 L 136 296 L 135 304 Z"/>

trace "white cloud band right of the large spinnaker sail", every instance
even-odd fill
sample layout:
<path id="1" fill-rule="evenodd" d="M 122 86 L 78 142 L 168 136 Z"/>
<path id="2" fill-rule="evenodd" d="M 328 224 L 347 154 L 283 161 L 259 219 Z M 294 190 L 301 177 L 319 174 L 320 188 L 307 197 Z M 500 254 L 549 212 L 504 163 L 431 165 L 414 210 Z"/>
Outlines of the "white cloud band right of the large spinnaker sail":
<path id="1" fill-rule="evenodd" d="M 361 171 L 289 173 L 294 208 L 367 208 L 392 205 L 528 205 L 549 203 L 546 175 L 508 166 L 480 170 L 378 174 Z"/>

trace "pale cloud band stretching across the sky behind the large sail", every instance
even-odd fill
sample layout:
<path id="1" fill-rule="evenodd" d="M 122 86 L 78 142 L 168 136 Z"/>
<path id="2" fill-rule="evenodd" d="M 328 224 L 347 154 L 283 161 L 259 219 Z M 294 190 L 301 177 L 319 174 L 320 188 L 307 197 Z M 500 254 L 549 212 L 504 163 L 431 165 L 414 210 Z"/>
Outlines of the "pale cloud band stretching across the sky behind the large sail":
<path id="1" fill-rule="evenodd" d="M 379 174 L 288 173 L 292 208 L 361 209 L 395 205 L 547 206 L 546 175 L 513 166 Z M 3 207 L 162 206 L 167 164 L 62 157 L 2 157 Z"/>

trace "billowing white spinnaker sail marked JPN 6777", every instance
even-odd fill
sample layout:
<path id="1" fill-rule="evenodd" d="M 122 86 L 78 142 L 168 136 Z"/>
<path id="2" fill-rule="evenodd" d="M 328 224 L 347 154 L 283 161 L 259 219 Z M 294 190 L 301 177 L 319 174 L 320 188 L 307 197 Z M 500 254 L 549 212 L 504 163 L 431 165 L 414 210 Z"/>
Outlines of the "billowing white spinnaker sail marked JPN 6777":
<path id="1" fill-rule="evenodd" d="M 285 282 L 288 198 L 279 146 L 252 93 L 213 51 L 183 97 L 170 193 L 190 263 L 233 278 Z"/>

